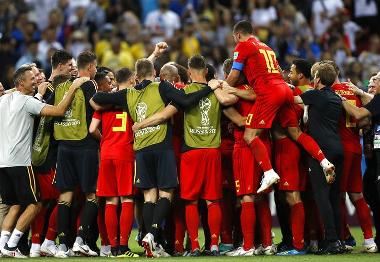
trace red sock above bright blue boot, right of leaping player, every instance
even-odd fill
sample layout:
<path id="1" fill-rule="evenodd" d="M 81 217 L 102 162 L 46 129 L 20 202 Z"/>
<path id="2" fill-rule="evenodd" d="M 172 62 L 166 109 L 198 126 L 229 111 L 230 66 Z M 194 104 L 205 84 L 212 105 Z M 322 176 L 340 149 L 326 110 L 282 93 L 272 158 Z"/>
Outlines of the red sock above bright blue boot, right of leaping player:
<path id="1" fill-rule="evenodd" d="M 305 244 L 303 240 L 303 228 L 305 224 L 305 210 L 303 210 L 303 203 L 298 202 L 290 206 L 291 216 L 291 229 L 293 233 L 293 246 L 301 249 Z"/>

